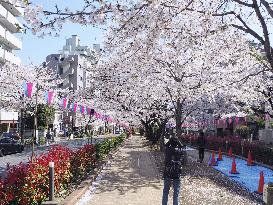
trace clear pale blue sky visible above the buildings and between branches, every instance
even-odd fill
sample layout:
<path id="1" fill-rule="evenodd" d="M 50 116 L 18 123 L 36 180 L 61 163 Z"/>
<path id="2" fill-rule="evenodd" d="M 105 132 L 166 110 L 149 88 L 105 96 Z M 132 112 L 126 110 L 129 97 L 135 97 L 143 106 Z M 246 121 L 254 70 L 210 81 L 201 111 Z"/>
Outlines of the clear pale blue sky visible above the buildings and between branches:
<path id="1" fill-rule="evenodd" d="M 67 6 L 73 9 L 80 9 L 82 8 L 84 1 L 32 0 L 31 2 L 43 5 L 44 9 L 53 10 L 55 4 L 57 4 L 59 8 L 65 8 Z M 255 30 L 257 30 L 257 28 L 255 28 Z M 271 28 L 269 32 L 271 34 L 271 42 L 273 42 L 273 28 Z M 58 51 L 65 45 L 65 39 L 71 37 L 71 35 L 78 35 L 81 40 L 80 44 L 83 46 L 92 46 L 94 43 L 102 44 L 103 42 L 103 31 L 101 29 L 92 26 L 66 23 L 64 24 L 59 37 L 46 36 L 44 38 L 38 38 L 33 35 L 31 31 L 27 31 L 26 34 L 17 34 L 17 37 L 22 39 L 23 49 L 17 51 L 16 55 L 21 58 L 23 65 L 28 65 L 30 63 L 39 65 L 45 61 L 46 56 L 59 53 Z"/>

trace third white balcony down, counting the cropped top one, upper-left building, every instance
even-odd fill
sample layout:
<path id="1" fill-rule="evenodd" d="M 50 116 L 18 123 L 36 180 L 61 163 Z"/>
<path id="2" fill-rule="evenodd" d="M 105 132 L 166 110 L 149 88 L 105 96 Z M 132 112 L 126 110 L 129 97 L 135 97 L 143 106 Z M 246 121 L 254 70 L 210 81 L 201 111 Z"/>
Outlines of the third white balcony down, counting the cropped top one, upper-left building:
<path id="1" fill-rule="evenodd" d="M 0 42 L 12 50 L 21 50 L 22 42 L 0 25 Z"/>

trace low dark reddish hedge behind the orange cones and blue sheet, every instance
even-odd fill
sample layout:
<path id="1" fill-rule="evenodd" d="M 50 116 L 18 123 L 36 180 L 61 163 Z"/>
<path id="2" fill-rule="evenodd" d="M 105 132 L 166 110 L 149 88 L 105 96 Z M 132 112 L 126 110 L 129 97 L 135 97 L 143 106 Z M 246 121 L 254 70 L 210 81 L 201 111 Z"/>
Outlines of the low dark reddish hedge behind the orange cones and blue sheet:
<path id="1" fill-rule="evenodd" d="M 197 136 L 195 135 L 183 135 L 181 137 L 182 142 L 191 144 L 192 146 L 198 147 Z M 238 137 L 217 137 L 208 136 L 206 137 L 206 149 L 218 151 L 221 148 L 222 151 L 226 151 L 227 148 L 232 148 L 232 153 L 247 158 L 248 151 L 251 151 L 253 159 L 257 162 L 273 166 L 273 150 L 266 144 L 254 141 L 248 142 L 243 141 L 243 154 L 242 154 L 242 140 Z"/>

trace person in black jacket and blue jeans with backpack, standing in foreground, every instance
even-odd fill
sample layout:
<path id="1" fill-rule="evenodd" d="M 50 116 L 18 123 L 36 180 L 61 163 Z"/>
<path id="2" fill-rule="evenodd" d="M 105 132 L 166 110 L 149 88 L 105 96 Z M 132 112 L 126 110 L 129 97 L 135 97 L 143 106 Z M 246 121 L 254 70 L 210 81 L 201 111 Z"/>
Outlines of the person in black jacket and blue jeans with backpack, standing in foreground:
<path id="1" fill-rule="evenodd" d="M 175 136 L 175 133 L 172 133 L 170 140 L 166 143 L 165 151 L 165 170 L 164 170 L 164 188 L 163 188 L 163 197 L 162 205 L 168 204 L 168 196 L 171 184 L 173 185 L 173 205 L 179 204 L 179 192 L 180 192 L 180 174 L 177 176 L 170 175 L 169 170 L 173 162 L 180 162 L 182 157 L 182 143 Z M 181 166 L 181 164 L 180 164 Z"/>

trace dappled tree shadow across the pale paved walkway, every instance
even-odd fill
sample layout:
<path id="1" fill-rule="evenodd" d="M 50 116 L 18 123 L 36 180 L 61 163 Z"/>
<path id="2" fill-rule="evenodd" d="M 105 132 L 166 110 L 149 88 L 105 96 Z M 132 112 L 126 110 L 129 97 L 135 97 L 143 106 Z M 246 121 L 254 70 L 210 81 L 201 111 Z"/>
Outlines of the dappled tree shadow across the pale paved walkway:
<path id="1" fill-rule="evenodd" d="M 138 148 L 143 146 L 127 144 L 125 154 L 119 152 L 114 156 L 112 167 L 106 170 L 97 191 L 104 193 L 118 190 L 119 195 L 126 195 L 129 192 L 136 193 L 143 187 L 162 188 L 150 153 Z"/>

